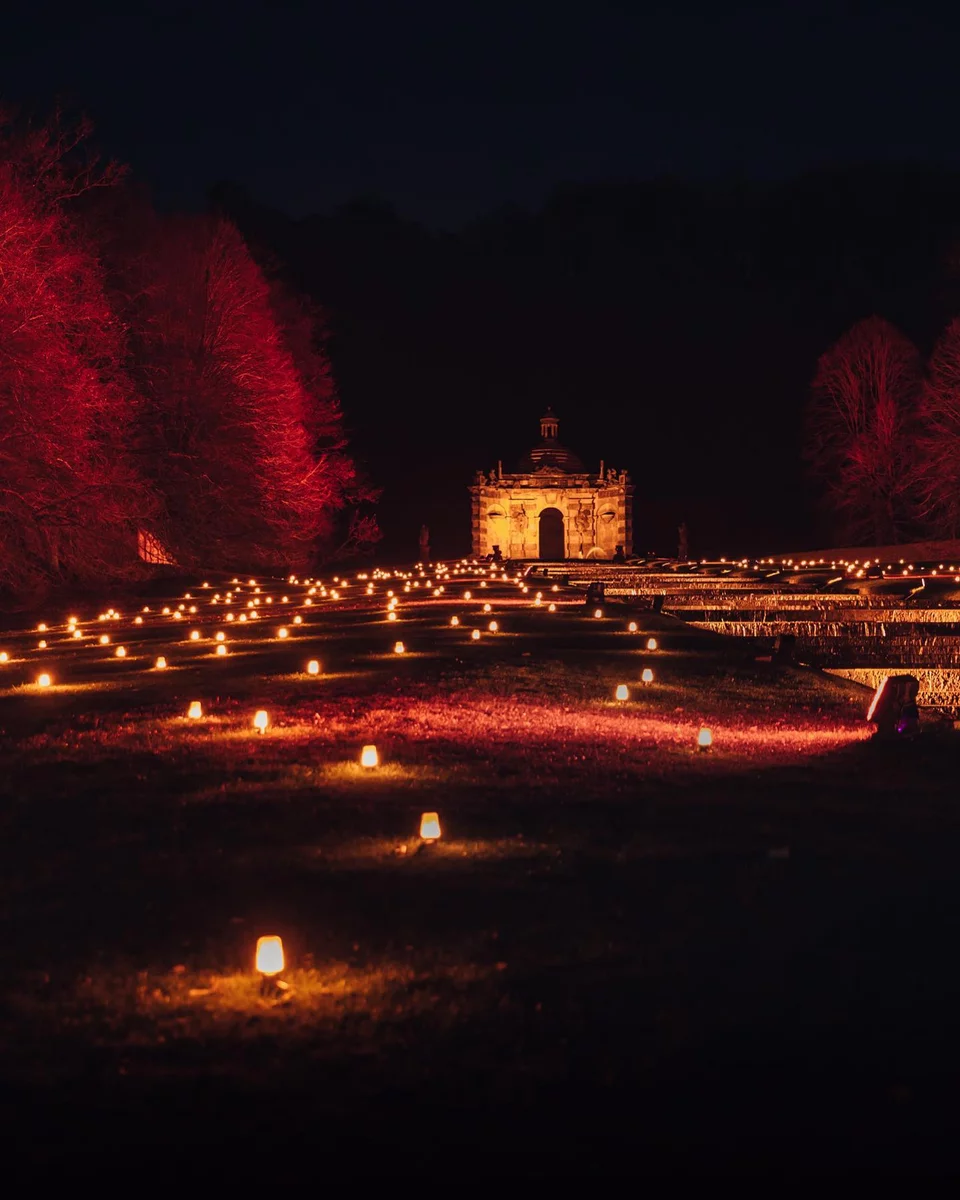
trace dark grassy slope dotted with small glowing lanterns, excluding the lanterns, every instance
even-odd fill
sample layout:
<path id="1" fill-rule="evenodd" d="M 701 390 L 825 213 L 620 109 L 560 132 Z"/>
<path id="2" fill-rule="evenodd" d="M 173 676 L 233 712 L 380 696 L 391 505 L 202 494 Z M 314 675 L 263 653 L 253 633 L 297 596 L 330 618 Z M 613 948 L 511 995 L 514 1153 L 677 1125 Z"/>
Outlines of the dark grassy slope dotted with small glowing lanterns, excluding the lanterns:
<path id="1" fill-rule="evenodd" d="M 7 1177 L 955 1168 L 960 736 L 865 740 L 863 691 L 668 618 L 425 582 L 0 635 Z"/>

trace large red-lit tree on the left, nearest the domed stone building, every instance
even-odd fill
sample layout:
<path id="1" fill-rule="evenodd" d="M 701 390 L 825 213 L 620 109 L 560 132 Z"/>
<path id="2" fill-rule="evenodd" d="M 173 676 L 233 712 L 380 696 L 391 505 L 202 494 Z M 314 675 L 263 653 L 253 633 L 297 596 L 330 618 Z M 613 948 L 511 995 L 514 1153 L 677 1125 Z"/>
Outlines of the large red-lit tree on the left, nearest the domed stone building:
<path id="1" fill-rule="evenodd" d="M 166 541 L 185 564 L 302 566 L 354 482 L 329 370 L 314 352 L 298 370 L 233 224 L 148 224 L 126 288 Z"/>

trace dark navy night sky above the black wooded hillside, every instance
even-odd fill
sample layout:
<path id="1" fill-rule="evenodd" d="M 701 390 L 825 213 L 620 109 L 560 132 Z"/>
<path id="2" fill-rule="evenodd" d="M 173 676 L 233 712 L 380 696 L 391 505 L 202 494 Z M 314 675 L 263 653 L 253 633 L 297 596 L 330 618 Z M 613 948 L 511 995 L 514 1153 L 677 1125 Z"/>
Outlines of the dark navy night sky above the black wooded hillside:
<path id="1" fill-rule="evenodd" d="M 560 181 L 956 164 L 955 17 L 917 4 L 17 6 L 8 101 L 83 108 L 158 202 L 229 179 L 450 227 Z"/>

